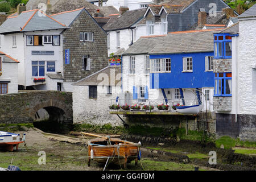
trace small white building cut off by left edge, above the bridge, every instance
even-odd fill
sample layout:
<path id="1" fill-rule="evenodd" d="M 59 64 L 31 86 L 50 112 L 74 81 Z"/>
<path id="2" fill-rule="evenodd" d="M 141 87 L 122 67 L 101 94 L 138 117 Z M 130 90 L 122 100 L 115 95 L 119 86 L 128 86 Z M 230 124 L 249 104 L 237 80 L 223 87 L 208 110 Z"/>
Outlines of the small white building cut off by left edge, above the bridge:
<path id="1" fill-rule="evenodd" d="M 0 94 L 18 93 L 19 61 L 0 51 Z"/>

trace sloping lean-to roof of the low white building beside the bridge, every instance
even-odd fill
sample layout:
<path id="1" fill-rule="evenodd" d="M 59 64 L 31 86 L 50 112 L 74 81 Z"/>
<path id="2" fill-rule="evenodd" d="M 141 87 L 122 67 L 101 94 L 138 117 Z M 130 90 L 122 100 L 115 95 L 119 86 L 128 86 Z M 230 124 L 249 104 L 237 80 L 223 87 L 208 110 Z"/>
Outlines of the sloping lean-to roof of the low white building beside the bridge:
<path id="1" fill-rule="evenodd" d="M 77 81 L 75 84 L 73 85 L 110 85 L 110 86 L 116 86 L 120 81 L 121 81 L 121 67 L 106 67 L 104 69 L 101 69 L 100 71 L 82 78 L 82 80 Z M 120 79 L 115 79 L 118 77 L 118 74 L 120 74 Z M 104 78 L 102 78 L 102 76 L 100 75 L 104 75 L 104 76 L 108 76 L 108 82 L 104 81 Z M 100 76 L 98 79 L 98 76 Z M 110 78 L 114 78 L 115 82 L 113 85 L 113 81 Z"/>

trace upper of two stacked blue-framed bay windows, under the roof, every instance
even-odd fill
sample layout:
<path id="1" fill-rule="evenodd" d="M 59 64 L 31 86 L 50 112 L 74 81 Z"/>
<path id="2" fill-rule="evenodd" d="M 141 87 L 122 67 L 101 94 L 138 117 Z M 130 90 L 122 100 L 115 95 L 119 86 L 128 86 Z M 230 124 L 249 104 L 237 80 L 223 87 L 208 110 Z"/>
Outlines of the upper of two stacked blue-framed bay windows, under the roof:
<path id="1" fill-rule="evenodd" d="M 232 58 L 232 37 L 229 34 L 214 34 L 214 59 Z"/>

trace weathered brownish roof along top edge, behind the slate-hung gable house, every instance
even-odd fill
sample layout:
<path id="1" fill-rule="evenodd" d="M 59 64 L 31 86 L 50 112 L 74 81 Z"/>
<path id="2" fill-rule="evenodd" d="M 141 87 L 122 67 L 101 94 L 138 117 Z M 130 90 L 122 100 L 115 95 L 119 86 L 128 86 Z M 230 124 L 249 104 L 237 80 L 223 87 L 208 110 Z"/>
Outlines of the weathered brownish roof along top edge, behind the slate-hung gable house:
<path id="1" fill-rule="evenodd" d="M 27 10 L 38 9 L 39 3 L 47 4 L 47 0 L 30 0 L 27 2 Z M 119 13 L 114 6 L 103 6 L 99 7 L 93 5 L 90 2 L 85 0 L 51 0 L 53 14 L 61 13 L 63 11 L 71 11 L 80 9 L 81 7 L 85 7 L 85 9 L 89 12 L 90 15 L 94 15 L 97 13 L 97 9 L 100 9 L 100 12 L 104 14 L 104 16 L 109 16 L 110 14 Z"/>

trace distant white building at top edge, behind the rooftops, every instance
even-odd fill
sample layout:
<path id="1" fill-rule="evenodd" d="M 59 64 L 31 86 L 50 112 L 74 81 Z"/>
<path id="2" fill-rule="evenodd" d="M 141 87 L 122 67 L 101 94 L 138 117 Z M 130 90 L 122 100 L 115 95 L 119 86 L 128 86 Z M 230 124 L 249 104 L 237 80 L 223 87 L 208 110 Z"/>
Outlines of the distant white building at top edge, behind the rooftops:
<path id="1" fill-rule="evenodd" d="M 117 10 L 119 10 L 120 6 L 129 7 L 129 10 L 135 10 L 147 7 L 154 0 L 108 0 L 106 2 L 106 6 L 114 6 Z"/>

